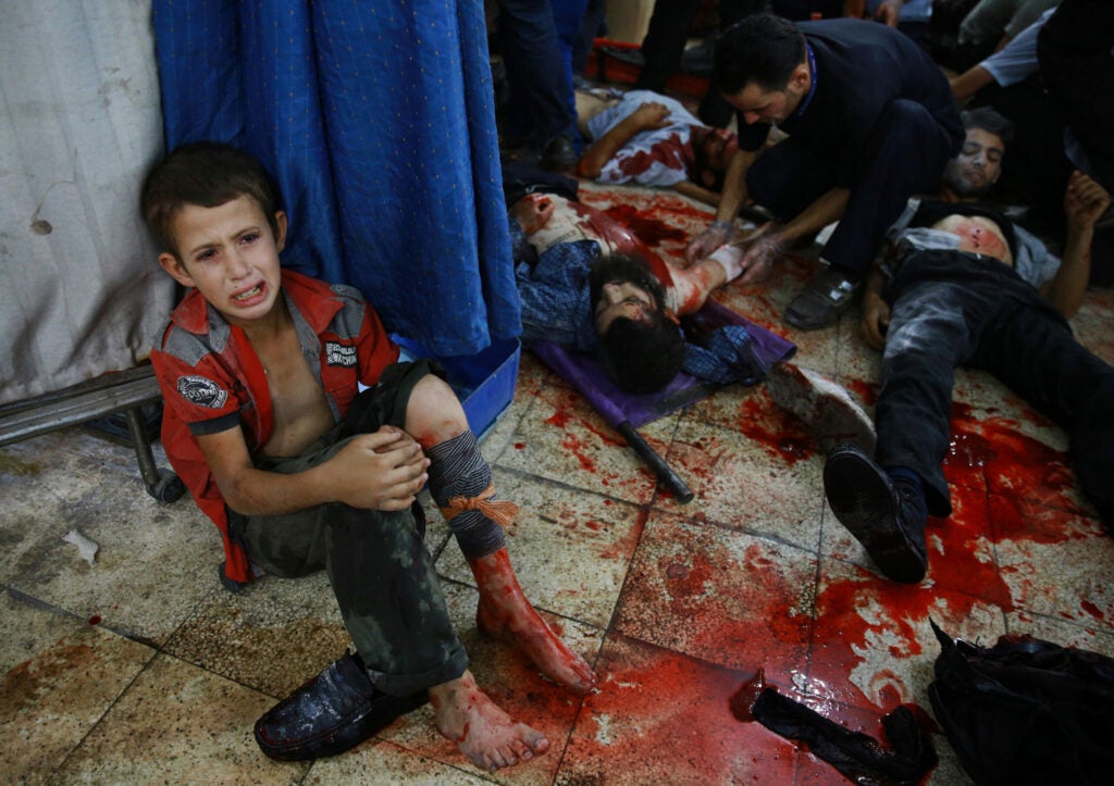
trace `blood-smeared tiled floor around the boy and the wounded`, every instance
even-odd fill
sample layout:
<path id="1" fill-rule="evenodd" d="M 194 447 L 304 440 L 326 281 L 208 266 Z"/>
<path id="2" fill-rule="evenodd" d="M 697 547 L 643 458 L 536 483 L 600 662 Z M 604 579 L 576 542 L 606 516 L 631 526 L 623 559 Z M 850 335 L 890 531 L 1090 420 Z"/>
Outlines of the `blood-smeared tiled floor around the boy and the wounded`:
<path id="1" fill-rule="evenodd" d="M 585 188 L 673 253 L 705 220 L 680 198 Z M 857 314 L 800 334 L 776 315 L 811 263 L 772 287 L 719 295 L 798 342 L 798 362 L 864 404 L 878 356 Z M 1074 325 L 1114 361 L 1114 297 Z M 526 591 L 596 666 L 578 699 L 481 638 L 476 590 L 448 530 L 429 547 L 473 670 L 553 740 L 489 776 L 441 739 L 424 707 L 332 759 L 276 764 L 252 723 L 338 657 L 346 635 L 323 576 L 219 588 L 212 525 L 164 505 L 134 458 L 81 430 L 0 449 L 0 779 L 27 783 L 770 784 L 844 783 L 755 724 L 732 695 L 759 669 L 829 718 L 880 736 L 901 703 L 930 710 L 929 618 L 990 643 L 1032 632 L 1114 655 L 1114 541 L 1081 500 L 1064 434 L 994 380 L 960 372 L 948 459 L 956 512 L 929 528 L 919 587 L 879 578 L 834 522 L 821 456 L 763 387 L 729 389 L 644 430 L 696 493 L 680 504 L 585 401 L 524 353 L 514 403 L 483 441 L 500 493 L 524 509 L 510 551 Z M 62 536 L 100 549 L 81 559 Z M 934 784 L 965 783 L 947 741 Z"/>

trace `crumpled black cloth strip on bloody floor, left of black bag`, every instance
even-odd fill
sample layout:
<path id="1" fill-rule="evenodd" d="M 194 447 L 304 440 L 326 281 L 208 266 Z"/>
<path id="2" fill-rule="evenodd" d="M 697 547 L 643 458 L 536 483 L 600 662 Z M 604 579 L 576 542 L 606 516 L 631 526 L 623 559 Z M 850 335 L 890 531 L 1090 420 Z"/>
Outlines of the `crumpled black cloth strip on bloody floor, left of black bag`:
<path id="1" fill-rule="evenodd" d="M 813 756 L 832 765 L 852 783 L 918 784 L 938 760 L 931 738 L 908 707 L 898 707 L 882 718 L 888 748 L 772 688 L 759 694 L 751 713 L 771 731 L 808 745 Z"/>

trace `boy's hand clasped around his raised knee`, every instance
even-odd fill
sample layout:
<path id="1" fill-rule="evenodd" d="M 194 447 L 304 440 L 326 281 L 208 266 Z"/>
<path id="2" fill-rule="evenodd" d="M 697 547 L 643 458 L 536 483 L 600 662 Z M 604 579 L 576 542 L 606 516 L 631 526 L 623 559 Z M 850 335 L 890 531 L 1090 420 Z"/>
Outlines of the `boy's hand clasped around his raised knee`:
<path id="1" fill-rule="evenodd" d="M 367 510 L 405 510 L 429 479 L 421 446 L 389 425 L 354 438 L 325 464 L 338 500 Z"/>

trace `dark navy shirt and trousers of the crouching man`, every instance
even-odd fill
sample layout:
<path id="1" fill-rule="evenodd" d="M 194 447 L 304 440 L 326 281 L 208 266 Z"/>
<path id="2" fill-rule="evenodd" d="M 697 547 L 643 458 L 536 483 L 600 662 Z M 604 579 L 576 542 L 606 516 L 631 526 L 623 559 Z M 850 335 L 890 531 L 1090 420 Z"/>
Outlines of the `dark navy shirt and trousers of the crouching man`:
<path id="1" fill-rule="evenodd" d="M 913 194 L 939 185 L 962 125 L 939 67 L 886 24 L 833 19 L 799 24 L 815 61 L 811 99 L 781 124 L 789 139 L 746 176 L 754 200 L 788 220 L 832 188 L 850 189 L 821 257 L 860 278 Z M 739 115 L 739 145 L 758 150 L 769 125 Z"/>

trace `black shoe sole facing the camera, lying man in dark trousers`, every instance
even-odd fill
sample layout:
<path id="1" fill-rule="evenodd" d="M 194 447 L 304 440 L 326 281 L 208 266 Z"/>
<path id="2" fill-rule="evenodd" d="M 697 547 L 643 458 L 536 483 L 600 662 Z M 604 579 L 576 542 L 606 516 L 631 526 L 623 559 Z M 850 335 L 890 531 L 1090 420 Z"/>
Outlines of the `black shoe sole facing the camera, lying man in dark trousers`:
<path id="1" fill-rule="evenodd" d="M 925 560 L 898 527 L 889 485 L 873 465 L 856 453 L 833 451 L 824 464 L 824 497 L 883 576 L 903 584 L 925 578 Z"/>

